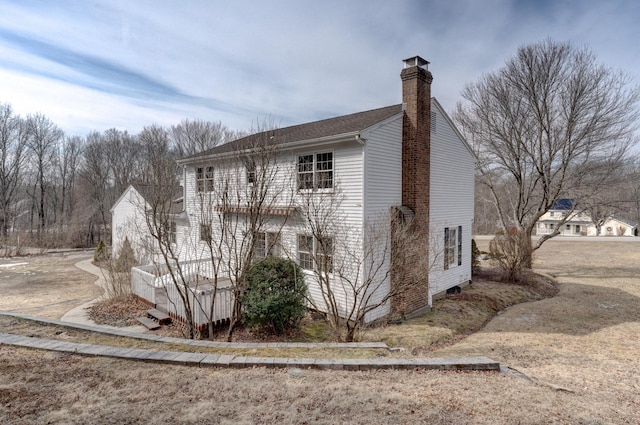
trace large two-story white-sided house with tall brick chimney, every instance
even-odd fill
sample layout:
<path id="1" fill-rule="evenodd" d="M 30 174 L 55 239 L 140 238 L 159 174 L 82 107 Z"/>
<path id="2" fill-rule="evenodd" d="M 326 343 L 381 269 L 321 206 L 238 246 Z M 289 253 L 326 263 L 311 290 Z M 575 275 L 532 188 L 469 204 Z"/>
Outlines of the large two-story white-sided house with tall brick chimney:
<path id="1" fill-rule="evenodd" d="M 216 227 L 220 221 L 211 220 L 211 216 L 225 215 L 246 225 L 250 207 L 244 198 L 225 206 L 204 204 L 202 199 L 207 195 L 221 199 L 222 193 L 259 184 L 256 173 L 260 163 L 256 165 L 255 156 L 251 159 L 255 155 L 251 147 L 267 140 L 277 147 L 278 176 L 269 183 L 275 202 L 265 210 L 268 219 L 257 236 L 264 246 L 257 250 L 262 255 L 270 252 L 297 261 L 317 305 L 322 304 L 322 294 L 313 272 L 317 266 L 309 259 L 319 255 L 322 243 L 334 247 L 330 261 L 336 264 L 345 260 L 347 253 L 360 252 L 363 257 L 367 243 L 374 239 L 387 244 L 376 247 L 376 258 L 382 258 L 379 253 L 385 247 L 391 255 L 381 260 L 381 281 L 377 282 L 381 292 L 372 300 L 406 279 L 395 268 L 392 271 L 398 255 L 388 246 L 392 233 L 388 217 L 394 214 L 415 223 L 417 236 L 408 243 L 425 247 L 421 256 L 429 255 L 431 263 L 405 259 L 407 267 L 421 268 L 412 273 L 420 278 L 410 282 L 411 290 L 401 300 L 392 299 L 370 312 L 366 321 L 391 313 L 409 316 L 427 311 L 435 294 L 469 282 L 475 156 L 445 110 L 431 97 L 432 75 L 427 68 L 428 62 L 418 56 L 404 61 L 401 104 L 256 133 L 179 160 L 186 217 L 176 229 L 175 246 L 181 260 L 206 258 L 206 241 L 221 234 Z M 233 183 L 222 188 L 222 175 L 228 175 L 230 169 L 235 174 Z M 309 222 L 302 217 L 304 207 L 300 205 L 305 203 L 335 205 L 335 218 L 328 220 L 329 236 L 323 241 L 312 236 Z M 205 215 L 207 219 L 203 219 Z M 380 217 L 387 219 L 381 221 Z M 242 226 L 236 228 L 245 232 Z M 387 237 L 376 239 L 372 232 Z M 362 282 L 363 269 L 370 265 L 358 264 L 354 280 Z M 353 300 L 347 291 L 336 292 L 339 304 L 348 309 Z"/>

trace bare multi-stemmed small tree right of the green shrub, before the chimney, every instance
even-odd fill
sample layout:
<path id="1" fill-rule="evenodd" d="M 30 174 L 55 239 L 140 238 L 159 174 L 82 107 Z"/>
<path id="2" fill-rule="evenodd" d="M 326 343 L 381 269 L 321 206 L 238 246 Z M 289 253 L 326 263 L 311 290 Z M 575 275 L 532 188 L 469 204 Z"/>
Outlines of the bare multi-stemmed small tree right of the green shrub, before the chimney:
<path id="1" fill-rule="evenodd" d="M 315 283 L 319 293 L 314 296 L 311 289 L 309 302 L 327 314 L 338 341 L 354 341 L 372 318 L 391 317 L 391 302 L 401 305 L 411 282 L 425 281 L 440 261 L 436 233 L 421 237 L 412 218 L 397 208 L 367 217 L 362 226 L 350 224 L 337 182 L 330 191 L 301 192 L 297 200 L 302 216 L 298 261 L 313 271 L 309 287 Z M 403 261 L 409 259 L 410 264 Z"/>

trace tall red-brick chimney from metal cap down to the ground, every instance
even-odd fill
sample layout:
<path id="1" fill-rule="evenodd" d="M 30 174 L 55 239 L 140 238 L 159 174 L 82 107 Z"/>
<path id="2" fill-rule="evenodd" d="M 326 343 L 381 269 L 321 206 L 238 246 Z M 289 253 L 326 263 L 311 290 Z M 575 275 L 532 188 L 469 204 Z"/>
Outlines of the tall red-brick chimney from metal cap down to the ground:
<path id="1" fill-rule="evenodd" d="M 429 310 L 429 181 L 431 155 L 431 81 L 429 62 L 420 56 L 404 60 L 402 79 L 402 205 L 394 208 L 392 226 L 409 226 L 410 240 L 399 241 L 392 227 L 391 285 L 400 288 L 391 300 L 392 317 L 408 318 Z M 399 224 L 405 223 L 405 224 Z M 410 244 L 410 246 L 409 246 Z M 427 261 L 424 261 L 424 260 Z M 398 286 L 400 285 L 400 286 Z"/>

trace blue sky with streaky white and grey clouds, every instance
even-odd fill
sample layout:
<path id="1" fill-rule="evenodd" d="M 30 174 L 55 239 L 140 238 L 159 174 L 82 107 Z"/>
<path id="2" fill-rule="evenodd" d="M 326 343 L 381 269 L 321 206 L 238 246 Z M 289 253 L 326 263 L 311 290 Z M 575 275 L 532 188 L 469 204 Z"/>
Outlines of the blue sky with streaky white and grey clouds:
<path id="1" fill-rule="evenodd" d="M 184 118 L 249 130 L 400 103 L 402 59 L 464 85 L 551 37 L 640 84 L 637 0 L 0 0 L 0 103 L 69 135 Z"/>

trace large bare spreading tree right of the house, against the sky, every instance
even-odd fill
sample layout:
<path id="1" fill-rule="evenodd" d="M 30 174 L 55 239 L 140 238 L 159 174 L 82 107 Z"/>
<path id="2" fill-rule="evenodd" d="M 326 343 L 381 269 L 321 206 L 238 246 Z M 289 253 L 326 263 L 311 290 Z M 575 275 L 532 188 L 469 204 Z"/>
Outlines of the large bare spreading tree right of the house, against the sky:
<path id="1" fill-rule="evenodd" d="M 634 138 L 639 91 L 598 65 L 590 50 L 545 40 L 523 46 L 500 70 L 462 93 L 455 119 L 478 155 L 505 234 L 527 246 L 513 258 L 531 267 L 536 221 L 563 197 L 584 198 L 607 181 Z M 598 180 L 589 178 L 597 172 Z M 502 190 L 507 188 L 507 196 Z M 506 253 L 505 253 L 506 254 Z M 515 276 L 517 278 L 517 271 Z"/>

